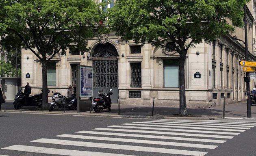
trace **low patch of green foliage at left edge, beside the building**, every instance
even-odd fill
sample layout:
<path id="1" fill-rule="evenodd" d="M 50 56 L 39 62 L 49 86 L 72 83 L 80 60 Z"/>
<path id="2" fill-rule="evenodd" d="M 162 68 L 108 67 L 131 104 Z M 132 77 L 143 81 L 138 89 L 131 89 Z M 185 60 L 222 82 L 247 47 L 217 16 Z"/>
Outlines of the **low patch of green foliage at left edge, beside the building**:
<path id="1" fill-rule="evenodd" d="M 11 65 L 11 63 L 6 63 L 5 61 L 0 61 L 0 76 L 1 77 L 16 77 L 16 67 Z M 17 69 L 17 77 L 21 77 L 21 69 Z"/>

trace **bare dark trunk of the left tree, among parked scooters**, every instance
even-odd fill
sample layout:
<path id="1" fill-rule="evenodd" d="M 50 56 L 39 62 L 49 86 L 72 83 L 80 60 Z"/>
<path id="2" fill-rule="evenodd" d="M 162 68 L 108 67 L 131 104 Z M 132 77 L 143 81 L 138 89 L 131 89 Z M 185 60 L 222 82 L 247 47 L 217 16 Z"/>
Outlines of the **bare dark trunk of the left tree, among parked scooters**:
<path id="1" fill-rule="evenodd" d="M 48 108 L 48 85 L 47 85 L 47 65 L 48 61 L 42 61 L 42 78 L 43 78 L 43 96 L 42 96 L 42 108 Z"/>

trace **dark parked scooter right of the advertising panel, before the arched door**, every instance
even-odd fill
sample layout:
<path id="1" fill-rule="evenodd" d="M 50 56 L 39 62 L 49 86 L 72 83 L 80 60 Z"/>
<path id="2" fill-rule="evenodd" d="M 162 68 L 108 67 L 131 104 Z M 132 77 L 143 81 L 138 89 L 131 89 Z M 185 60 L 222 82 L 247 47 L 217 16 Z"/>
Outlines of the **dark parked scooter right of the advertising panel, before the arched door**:
<path id="1" fill-rule="evenodd" d="M 103 89 L 102 89 L 103 91 Z M 110 95 L 113 93 L 110 92 L 112 89 L 108 90 L 108 93 L 101 93 L 102 91 L 99 91 L 99 97 L 101 98 L 93 98 L 93 110 L 98 113 L 100 111 L 103 111 L 104 109 L 108 108 L 108 111 L 111 111 L 111 98 Z"/>

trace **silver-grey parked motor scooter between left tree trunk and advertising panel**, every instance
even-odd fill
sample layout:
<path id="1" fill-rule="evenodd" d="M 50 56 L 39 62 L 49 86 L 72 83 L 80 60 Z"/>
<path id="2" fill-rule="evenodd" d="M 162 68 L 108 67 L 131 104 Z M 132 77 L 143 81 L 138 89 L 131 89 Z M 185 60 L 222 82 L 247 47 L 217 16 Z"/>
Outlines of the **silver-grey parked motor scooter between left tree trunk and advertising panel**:
<path id="1" fill-rule="evenodd" d="M 76 109 L 77 107 L 77 99 L 76 97 L 72 98 L 72 100 L 68 100 L 66 96 L 64 95 L 61 95 L 61 93 L 59 92 L 53 92 L 53 95 L 52 95 L 52 102 L 50 104 L 50 107 L 49 107 L 49 111 L 53 111 L 54 108 L 56 106 L 58 106 L 58 108 L 67 108 L 69 110 L 74 110 Z"/>

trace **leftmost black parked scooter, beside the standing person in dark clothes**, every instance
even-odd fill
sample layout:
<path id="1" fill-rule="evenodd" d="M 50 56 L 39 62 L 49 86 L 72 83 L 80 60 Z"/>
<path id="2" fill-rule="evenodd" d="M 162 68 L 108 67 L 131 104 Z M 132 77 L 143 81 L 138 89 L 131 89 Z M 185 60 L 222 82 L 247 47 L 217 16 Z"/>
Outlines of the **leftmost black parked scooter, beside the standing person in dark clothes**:
<path id="1" fill-rule="evenodd" d="M 42 108 L 42 93 L 26 97 L 22 90 L 23 89 L 21 88 L 15 95 L 13 101 L 15 109 L 21 109 L 23 106 L 38 106 L 39 108 Z M 49 89 L 48 93 L 50 93 Z"/>

